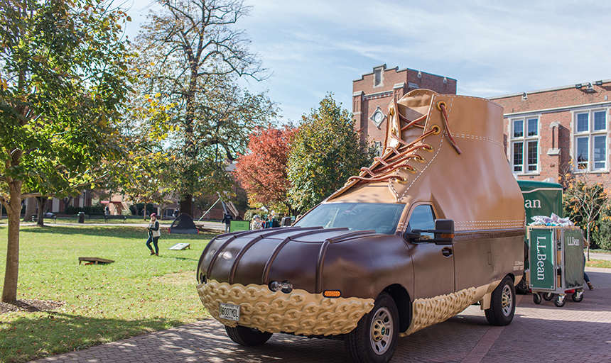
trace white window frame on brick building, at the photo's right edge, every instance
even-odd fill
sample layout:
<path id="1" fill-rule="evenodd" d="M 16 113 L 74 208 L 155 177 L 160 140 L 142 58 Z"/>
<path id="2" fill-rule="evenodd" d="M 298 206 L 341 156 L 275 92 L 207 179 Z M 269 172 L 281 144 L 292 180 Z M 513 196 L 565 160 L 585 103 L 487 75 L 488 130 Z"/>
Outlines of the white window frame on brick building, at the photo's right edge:
<path id="1" fill-rule="evenodd" d="M 585 174 L 585 173 L 602 173 L 609 172 L 609 111 L 608 107 L 595 107 L 595 108 L 586 108 L 578 111 L 572 111 L 571 115 L 571 130 L 573 131 L 573 135 L 571 135 L 571 153 L 573 156 L 573 172 L 575 174 Z M 605 128 L 600 128 L 595 130 L 596 125 L 596 114 L 604 114 L 605 115 Z M 583 126 L 583 124 L 578 123 L 580 120 L 580 116 L 587 115 L 588 123 L 586 125 L 586 129 L 583 130 L 579 128 L 579 126 Z M 601 161 L 595 160 L 596 152 L 596 139 L 600 139 L 600 137 L 604 137 L 604 159 L 602 163 L 604 163 L 603 167 L 596 167 L 596 164 Z M 580 162 L 578 160 L 578 140 L 586 140 L 588 147 L 588 160 L 585 162 Z M 585 164 L 585 167 L 580 167 L 581 164 Z"/>

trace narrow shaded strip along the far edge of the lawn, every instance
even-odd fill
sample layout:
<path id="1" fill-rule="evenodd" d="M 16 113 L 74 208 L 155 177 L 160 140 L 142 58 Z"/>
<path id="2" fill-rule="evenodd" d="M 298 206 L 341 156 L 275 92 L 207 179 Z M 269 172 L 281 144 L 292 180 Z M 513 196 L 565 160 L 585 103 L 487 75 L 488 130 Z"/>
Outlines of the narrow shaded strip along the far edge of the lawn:
<path id="1" fill-rule="evenodd" d="M 4 226 L 3 226 L 4 227 Z M 146 235 L 146 229 L 142 227 L 132 226 L 98 226 L 98 225 L 83 225 L 83 226 L 72 226 L 72 225 L 32 225 L 32 226 L 21 226 L 22 232 L 36 233 L 40 235 L 44 234 L 64 234 L 64 235 L 90 235 L 90 236 L 102 236 L 102 237 L 125 237 L 125 238 L 143 238 Z M 162 227 L 163 228 L 163 227 Z M 220 233 L 200 233 L 198 235 L 171 235 L 163 233 L 163 240 L 211 240 Z"/>

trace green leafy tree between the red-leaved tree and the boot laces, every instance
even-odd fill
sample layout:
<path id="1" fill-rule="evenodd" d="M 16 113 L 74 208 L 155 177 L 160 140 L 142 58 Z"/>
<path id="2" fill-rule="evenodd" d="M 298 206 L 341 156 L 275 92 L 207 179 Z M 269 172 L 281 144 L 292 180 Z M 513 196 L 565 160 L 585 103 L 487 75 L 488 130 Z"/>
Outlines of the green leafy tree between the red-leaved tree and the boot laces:
<path id="1" fill-rule="evenodd" d="M 372 163 L 374 148 L 362 142 L 352 113 L 336 104 L 332 94 L 320 107 L 302 116 L 288 156 L 289 194 L 305 211 L 340 189 L 348 177 Z"/>

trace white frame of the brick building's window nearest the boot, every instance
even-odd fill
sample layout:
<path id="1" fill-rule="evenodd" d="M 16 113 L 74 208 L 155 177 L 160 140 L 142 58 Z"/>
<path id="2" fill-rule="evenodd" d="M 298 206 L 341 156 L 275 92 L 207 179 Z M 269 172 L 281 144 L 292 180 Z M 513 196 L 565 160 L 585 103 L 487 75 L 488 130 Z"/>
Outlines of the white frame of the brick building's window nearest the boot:
<path id="1" fill-rule="evenodd" d="M 516 123 L 521 121 L 521 135 L 515 135 Z M 529 135 L 531 121 L 536 121 L 536 130 L 534 135 Z M 512 173 L 517 175 L 538 175 L 541 172 L 541 116 L 522 116 L 509 118 L 509 163 L 511 164 Z M 536 162 L 529 162 L 529 145 L 536 143 Z M 516 145 L 521 145 L 521 163 L 517 164 L 515 160 Z M 532 155 L 532 154 L 531 154 Z M 516 170 L 516 167 L 521 169 Z"/>

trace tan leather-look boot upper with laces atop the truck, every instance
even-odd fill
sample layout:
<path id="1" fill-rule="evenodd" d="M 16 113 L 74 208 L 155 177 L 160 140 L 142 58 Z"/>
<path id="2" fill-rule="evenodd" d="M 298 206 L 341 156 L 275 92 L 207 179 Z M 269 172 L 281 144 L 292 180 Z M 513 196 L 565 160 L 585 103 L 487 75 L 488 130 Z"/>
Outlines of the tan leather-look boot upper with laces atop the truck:
<path id="1" fill-rule="evenodd" d="M 428 201 L 456 232 L 523 229 L 502 118 L 503 108 L 486 99 L 411 91 L 389 106 L 384 155 L 328 201 Z"/>

